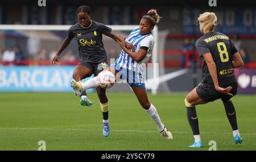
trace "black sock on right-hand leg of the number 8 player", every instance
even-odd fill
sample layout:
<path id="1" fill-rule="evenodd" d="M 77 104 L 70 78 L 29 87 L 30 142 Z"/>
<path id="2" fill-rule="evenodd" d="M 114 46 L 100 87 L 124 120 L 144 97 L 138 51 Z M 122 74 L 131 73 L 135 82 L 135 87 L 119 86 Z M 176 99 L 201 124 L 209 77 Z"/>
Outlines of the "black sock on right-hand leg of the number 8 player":
<path id="1" fill-rule="evenodd" d="M 232 127 L 232 130 L 237 130 L 237 115 L 236 110 L 234 109 L 234 105 L 232 101 L 229 102 L 223 102 L 225 110 L 226 110 L 226 116 L 229 119 L 229 123 Z"/>

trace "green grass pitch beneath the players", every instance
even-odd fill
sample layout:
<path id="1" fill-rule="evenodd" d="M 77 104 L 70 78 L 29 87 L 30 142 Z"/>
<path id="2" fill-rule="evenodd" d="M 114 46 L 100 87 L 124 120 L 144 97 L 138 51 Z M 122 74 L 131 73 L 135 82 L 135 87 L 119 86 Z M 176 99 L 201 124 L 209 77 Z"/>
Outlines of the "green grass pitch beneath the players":
<path id="1" fill-rule="evenodd" d="M 97 94 L 92 107 L 79 105 L 72 93 L 0 93 L 0 150 L 256 150 L 255 95 L 237 95 L 233 103 L 241 145 L 233 143 L 232 129 L 220 100 L 197 106 L 204 148 L 192 149 L 184 97 L 187 94 L 149 95 L 174 140 L 160 136 L 156 125 L 133 93 L 108 93 L 109 137 L 102 135 L 102 114 Z"/>

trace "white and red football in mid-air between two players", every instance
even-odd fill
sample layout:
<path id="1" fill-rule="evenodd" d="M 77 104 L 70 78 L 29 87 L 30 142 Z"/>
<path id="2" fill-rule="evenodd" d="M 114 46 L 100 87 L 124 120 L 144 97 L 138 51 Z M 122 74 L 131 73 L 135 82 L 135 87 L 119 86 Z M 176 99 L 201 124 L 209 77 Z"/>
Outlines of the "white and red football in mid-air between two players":
<path id="1" fill-rule="evenodd" d="M 115 76 L 112 72 L 104 70 L 98 74 L 97 82 L 101 88 L 108 89 L 114 85 Z"/>

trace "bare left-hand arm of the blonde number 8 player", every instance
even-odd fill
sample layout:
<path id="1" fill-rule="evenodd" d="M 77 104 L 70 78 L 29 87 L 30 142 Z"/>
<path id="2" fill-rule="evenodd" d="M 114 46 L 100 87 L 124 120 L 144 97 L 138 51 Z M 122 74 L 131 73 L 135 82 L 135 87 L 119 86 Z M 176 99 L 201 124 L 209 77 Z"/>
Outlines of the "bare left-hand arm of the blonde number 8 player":
<path id="1" fill-rule="evenodd" d="M 203 57 L 204 57 L 205 63 L 207 63 L 207 67 L 208 67 L 208 69 L 209 69 L 210 77 L 212 77 L 212 81 L 213 81 L 214 87 L 215 87 L 215 89 L 217 90 L 217 92 L 220 92 L 220 93 L 224 93 L 224 94 L 228 94 L 228 95 L 232 95 L 232 96 L 233 96 L 233 94 L 229 93 L 230 90 L 232 89 L 231 86 L 228 86 L 227 88 L 221 88 L 221 87 L 218 85 L 216 64 L 215 64 L 214 61 L 213 61 L 212 54 L 210 54 L 210 53 L 208 52 L 208 53 L 205 53 L 205 54 L 203 55 Z"/>

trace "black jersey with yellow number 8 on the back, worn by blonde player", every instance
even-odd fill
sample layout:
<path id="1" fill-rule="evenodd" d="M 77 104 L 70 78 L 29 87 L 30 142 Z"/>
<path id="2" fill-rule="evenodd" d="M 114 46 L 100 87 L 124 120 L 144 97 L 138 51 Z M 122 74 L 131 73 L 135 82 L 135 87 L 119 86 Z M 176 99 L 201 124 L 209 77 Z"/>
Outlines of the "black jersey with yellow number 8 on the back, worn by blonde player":
<path id="1" fill-rule="evenodd" d="M 196 48 L 203 61 L 203 55 L 205 53 L 212 54 L 217 68 L 219 85 L 226 85 L 236 82 L 232 65 L 232 55 L 237 53 L 237 49 L 234 47 L 233 41 L 230 40 L 228 36 L 220 32 L 208 32 L 196 41 Z M 202 69 L 202 78 L 203 82 L 213 84 L 212 77 L 210 77 L 210 73 L 205 61 Z"/>

